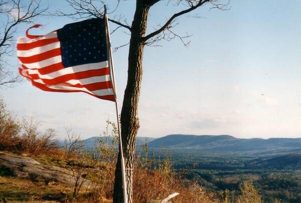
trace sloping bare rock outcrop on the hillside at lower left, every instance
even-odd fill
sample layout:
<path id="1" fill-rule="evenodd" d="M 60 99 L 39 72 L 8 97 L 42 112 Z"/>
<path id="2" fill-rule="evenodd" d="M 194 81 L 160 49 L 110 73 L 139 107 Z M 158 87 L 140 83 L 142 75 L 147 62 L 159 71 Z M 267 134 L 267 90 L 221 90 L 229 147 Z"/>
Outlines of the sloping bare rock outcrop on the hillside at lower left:
<path id="1" fill-rule="evenodd" d="M 28 177 L 32 180 L 55 181 L 74 185 L 75 180 L 70 170 L 58 166 L 47 166 L 26 156 L 0 153 L 0 171 L 14 176 Z M 91 182 L 85 180 L 83 185 Z"/>

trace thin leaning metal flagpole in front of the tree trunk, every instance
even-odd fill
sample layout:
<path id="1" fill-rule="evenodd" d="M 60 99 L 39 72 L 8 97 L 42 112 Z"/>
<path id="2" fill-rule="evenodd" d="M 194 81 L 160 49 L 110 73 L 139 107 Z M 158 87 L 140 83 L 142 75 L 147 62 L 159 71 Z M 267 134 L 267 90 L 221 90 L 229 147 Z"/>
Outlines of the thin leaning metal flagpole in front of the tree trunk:
<path id="1" fill-rule="evenodd" d="M 112 49 L 111 49 L 111 40 L 110 40 L 110 32 L 109 32 L 109 23 L 107 17 L 107 9 L 106 5 L 104 5 L 104 18 L 107 32 L 107 49 L 108 49 L 108 64 L 111 71 L 112 83 L 113 83 L 113 91 L 115 94 L 115 107 L 116 107 L 116 116 L 117 116 L 117 126 L 118 126 L 118 135 L 120 141 L 120 156 L 121 156 L 121 173 L 122 173 L 122 185 L 123 185 L 123 202 L 127 203 L 127 192 L 126 192 L 126 180 L 125 180 L 125 166 L 124 166 L 124 157 L 123 157 L 123 148 L 122 148 L 122 139 L 121 139 L 121 131 L 120 131 L 120 121 L 119 121 L 119 112 L 118 112 L 118 101 L 117 101 L 117 90 L 115 84 L 115 76 L 114 76 L 114 66 L 113 66 L 113 57 L 112 57 Z"/>

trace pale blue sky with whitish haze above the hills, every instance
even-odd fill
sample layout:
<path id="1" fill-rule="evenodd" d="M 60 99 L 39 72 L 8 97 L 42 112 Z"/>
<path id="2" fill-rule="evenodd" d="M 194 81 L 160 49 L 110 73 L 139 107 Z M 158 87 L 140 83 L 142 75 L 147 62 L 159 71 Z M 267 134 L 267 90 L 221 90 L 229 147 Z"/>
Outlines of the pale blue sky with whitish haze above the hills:
<path id="1" fill-rule="evenodd" d="M 42 2 L 51 12 L 72 11 L 63 0 Z M 147 33 L 183 8 L 166 2 L 150 9 Z M 231 0 L 229 7 L 206 5 L 179 17 L 174 31 L 192 34 L 188 47 L 179 39 L 145 47 L 138 136 L 301 137 L 301 1 Z M 121 1 L 109 17 L 121 13 L 130 24 L 134 8 L 134 0 Z M 31 33 L 46 34 L 73 20 L 41 16 L 35 22 L 44 26 Z M 29 26 L 19 26 L 15 36 L 24 36 Z M 112 47 L 128 42 L 124 32 L 111 35 Z M 128 46 L 113 53 L 119 109 L 127 54 Z M 17 72 L 16 54 L 9 60 Z M 0 95 L 20 118 L 32 116 L 42 129 L 55 128 L 58 138 L 66 136 L 64 127 L 82 138 L 97 136 L 105 120 L 116 120 L 113 102 L 85 93 L 46 92 L 24 81 L 0 88 Z"/>

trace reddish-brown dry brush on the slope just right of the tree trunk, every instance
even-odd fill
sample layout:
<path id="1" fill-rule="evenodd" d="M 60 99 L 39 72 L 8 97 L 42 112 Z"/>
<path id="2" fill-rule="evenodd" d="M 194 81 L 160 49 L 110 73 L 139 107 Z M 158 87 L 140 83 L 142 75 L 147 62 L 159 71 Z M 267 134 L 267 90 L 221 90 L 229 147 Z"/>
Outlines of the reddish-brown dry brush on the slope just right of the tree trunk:
<path id="1" fill-rule="evenodd" d="M 160 171 L 137 169 L 134 171 L 134 202 L 149 202 L 164 199 L 168 195 L 178 192 L 173 202 L 218 202 L 216 195 L 207 192 L 200 185 L 177 178 L 172 174 Z"/>

